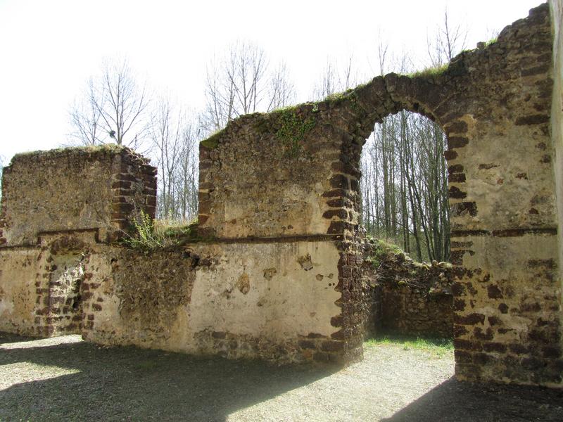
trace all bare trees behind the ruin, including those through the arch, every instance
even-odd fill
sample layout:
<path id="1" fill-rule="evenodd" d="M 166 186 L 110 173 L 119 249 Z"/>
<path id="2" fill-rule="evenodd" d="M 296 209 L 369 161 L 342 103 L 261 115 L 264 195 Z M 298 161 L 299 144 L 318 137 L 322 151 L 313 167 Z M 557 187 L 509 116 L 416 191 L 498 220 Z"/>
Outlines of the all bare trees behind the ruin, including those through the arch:
<path id="1" fill-rule="evenodd" d="M 448 63 L 464 48 L 467 31 L 450 25 L 447 12 L 428 41 L 431 66 Z M 408 73 L 408 56 L 389 58 L 377 48 L 379 74 Z M 373 73 L 373 72 L 370 72 Z M 309 100 L 355 87 L 367 75 L 353 56 L 328 60 Z M 151 157 L 158 167 L 159 219 L 189 222 L 197 216 L 198 142 L 246 113 L 289 106 L 298 99 L 285 63 L 272 65 L 260 46 L 233 44 L 213 60 L 205 77 L 205 106 L 189 110 L 171 96 L 156 98 L 139 83 L 126 60 L 103 63 L 70 108 L 71 143 L 115 142 Z M 448 172 L 441 128 L 400 111 L 375 124 L 361 159 L 362 224 L 418 260 L 448 260 L 450 252 Z"/>

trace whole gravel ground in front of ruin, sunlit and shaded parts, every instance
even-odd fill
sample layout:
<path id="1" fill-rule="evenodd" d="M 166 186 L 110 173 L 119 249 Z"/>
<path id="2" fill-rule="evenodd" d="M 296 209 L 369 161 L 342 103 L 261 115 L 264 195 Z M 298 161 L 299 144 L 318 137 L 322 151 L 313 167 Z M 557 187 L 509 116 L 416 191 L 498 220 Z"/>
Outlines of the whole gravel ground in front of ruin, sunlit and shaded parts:
<path id="1" fill-rule="evenodd" d="M 451 352 L 368 345 L 340 371 L 0 334 L 0 421 L 563 421 L 563 391 L 453 379 Z"/>

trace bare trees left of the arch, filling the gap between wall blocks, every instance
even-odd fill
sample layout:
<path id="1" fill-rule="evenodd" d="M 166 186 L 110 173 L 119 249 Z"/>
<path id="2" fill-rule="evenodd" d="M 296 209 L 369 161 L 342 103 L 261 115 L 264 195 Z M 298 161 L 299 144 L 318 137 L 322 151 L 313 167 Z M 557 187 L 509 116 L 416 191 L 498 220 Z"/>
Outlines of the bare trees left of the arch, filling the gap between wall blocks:
<path id="1" fill-rule="evenodd" d="M 248 42 L 210 63 L 199 111 L 152 94 L 127 60 L 106 60 L 70 107 L 70 144 L 117 143 L 148 155 L 158 167 L 158 218 L 189 222 L 197 216 L 199 141 L 236 117 L 293 101 L 285 63 L 271 65 L 265 51 Z"/>

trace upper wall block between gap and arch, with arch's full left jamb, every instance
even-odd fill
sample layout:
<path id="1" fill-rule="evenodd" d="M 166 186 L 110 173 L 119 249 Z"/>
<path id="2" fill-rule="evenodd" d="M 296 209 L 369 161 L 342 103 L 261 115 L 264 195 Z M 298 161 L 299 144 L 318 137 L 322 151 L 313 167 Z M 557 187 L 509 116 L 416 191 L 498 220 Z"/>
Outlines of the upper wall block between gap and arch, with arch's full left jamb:
<path id="1" fill-rule="evenodd" d="M 352 153 L 342 146 L 353 139 L 355 125 L 339 105 L 339 98 L 331 98 L 241 117 L 203 141 L 199 222 L 202 234 L 223 240 L 326 241 L 336 253 L 337 279 L 331 282 L 336 307 L 325 321 L 332 331 L 314 355 L 352 361 L 362 354 L 367 305 L 362 283 L 355 282 L 361 279 L 362 253 L 344 233 L 350 219 L 358 229 L 360 212 L 359 200 L 348 199 L 359 197 L 360 172 L 346 164 L 352 160 L 342 160 Z M 363 142 L 354 153 L 359 155 Z M 298 279 L 292 282 L 302 288 Z"/>

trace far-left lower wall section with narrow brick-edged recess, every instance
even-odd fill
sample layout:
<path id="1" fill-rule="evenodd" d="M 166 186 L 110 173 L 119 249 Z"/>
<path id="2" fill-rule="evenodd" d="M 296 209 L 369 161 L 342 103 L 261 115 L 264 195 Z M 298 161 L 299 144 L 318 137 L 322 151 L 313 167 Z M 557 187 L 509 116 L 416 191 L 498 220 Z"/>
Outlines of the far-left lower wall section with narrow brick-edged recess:
<path id="1" fill-rule="evenodd" d="M 44 235 L 34 247 L 0 248 L 0 331 L 80 333 L 84 263 L 95 231 Z"/>

